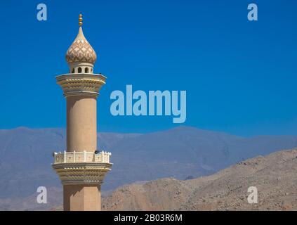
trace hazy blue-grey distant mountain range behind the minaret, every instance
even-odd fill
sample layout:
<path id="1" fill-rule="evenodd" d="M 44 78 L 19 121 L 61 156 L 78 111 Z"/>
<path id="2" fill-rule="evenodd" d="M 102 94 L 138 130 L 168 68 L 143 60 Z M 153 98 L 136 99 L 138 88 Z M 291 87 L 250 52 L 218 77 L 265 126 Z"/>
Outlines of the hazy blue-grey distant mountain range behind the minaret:
<path id="1" fill-rule="evenodd" d="M 65 150 L 64 129 L 0 130 L 0 198 L 27 197 L 38 186 L 60 187 L 53 151 Z M 98 148 L 112 152 L 103 191 L 135 181 L 186 179 L 297 146 L 297 136 L 244 138 L 193 127 L 149 134 L 99 133 Z"/>

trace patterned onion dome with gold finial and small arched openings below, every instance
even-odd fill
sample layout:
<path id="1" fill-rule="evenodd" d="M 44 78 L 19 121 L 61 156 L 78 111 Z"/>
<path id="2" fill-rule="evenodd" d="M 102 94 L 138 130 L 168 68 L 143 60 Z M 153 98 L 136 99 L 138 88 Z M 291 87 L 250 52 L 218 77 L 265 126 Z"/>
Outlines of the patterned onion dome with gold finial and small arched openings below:
<path id="1" fill-rule="evenodd" d="M 79 33 L 66 53 L 70 73 L 93 73 L 97 59 L 91 44 L 88 43 L 82 31 L 82 15 L 79 14 Z"/>

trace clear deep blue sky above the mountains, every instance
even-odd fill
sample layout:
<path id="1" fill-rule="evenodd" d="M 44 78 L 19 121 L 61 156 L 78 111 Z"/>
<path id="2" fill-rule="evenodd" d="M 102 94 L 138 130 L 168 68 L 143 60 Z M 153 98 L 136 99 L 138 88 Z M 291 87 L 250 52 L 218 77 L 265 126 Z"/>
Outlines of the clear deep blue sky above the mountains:
<path id="1" fill-rule="evenodd" d="M 37 20 L 37 4 L 48 21 Z M 258 4 L 250 22 L 247 5 Z M 107 76 L 98 130 L 176 127 L 172 117 L 114 117 L 110 94 L 186 90 L 187 126 L 242 136 L 297 134 L 296 1 L 6 1 L 1 3 L 0 129 L 65 127 L 55 76 L 84 14 L 84 34 Z"/>

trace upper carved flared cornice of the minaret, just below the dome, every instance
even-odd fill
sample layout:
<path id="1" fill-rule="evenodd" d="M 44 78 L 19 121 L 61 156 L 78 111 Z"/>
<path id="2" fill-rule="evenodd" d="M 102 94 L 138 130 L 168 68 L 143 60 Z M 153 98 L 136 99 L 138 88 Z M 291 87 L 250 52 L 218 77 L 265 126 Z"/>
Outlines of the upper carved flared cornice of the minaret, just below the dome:
<path id="1" fill-rule="evenodd" d="M 103 75 L 67 74 L 56 77 L 64 96 L 88 95 L 97 97 L 101 86 L 105 84 Z"/>

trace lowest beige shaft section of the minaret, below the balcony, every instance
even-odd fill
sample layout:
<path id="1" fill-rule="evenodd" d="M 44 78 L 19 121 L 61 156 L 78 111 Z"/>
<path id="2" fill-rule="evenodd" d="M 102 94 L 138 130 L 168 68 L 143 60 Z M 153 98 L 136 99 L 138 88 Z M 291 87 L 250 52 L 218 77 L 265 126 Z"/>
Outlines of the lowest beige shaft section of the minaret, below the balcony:
<path id="1" fill-rule="evenodd" d="M 98 185 L 64 185 L 64 211 L 100 211 L 101 191 Z"/>

